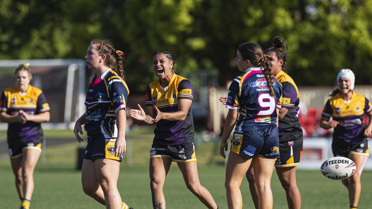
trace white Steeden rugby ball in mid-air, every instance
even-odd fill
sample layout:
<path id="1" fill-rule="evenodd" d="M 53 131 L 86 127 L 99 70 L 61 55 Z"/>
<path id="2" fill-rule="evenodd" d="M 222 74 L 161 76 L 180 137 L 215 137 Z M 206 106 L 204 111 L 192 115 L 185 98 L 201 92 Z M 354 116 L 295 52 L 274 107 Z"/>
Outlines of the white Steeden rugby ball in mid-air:
<path id="1" fill-rule="evenodd" d="M 354 174 L 355 170 L 355 163 L 346 157 L 329 158 L 320 167 L 322 174 L 333 180 L 347 179 Z"/>

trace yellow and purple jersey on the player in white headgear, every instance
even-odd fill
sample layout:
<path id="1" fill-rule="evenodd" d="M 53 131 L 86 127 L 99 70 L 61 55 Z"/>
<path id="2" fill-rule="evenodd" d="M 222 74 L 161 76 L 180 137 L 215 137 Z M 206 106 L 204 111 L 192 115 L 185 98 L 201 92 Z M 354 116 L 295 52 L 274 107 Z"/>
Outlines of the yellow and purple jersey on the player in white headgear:
<path id="1" fill-rule="evenodd" d="M 362 94 L 354 91 L 349 101 L 344 101 L 340 94 L 328 99 L 325 103 L 322 116 L 338 121 L 340 124 L 334 128 L 333 139 L 343 140 L 350 144 L 356 144 L 365 136 L 363 114 L 372 110 L 371 102 Z"/>

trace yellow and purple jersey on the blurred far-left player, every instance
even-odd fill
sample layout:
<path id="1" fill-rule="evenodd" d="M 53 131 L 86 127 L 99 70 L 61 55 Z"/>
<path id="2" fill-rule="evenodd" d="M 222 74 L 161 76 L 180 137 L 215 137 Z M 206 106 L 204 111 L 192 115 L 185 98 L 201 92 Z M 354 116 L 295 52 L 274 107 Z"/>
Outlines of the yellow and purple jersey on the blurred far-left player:
<path id="1" fill-rule="evenodd" d="M 0 111 L 9 115 L 17 115 L 23 110 L 29 115 L 36 115 L 50 110 L 47 99 L 41 89 L 28 86 L 25 93 L 18 91 L 17 87 L 7 88 L 1 94 Z M 43 142 L 43 131 L 41 123 L 27 121 L 22 123 L 9 123 L 7 132 L 9 144 Z"/>

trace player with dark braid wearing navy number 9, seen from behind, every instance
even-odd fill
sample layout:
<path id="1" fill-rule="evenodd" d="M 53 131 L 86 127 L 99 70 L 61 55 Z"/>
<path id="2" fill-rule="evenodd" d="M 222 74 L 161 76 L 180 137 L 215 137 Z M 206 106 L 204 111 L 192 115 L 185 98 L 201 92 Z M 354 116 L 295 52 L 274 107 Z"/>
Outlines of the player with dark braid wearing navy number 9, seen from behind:
<path id="1" fill-rule="evenodd" d="M 220 146 L 220 154 L 226 158 L 224 149 L 227 151 L 227 139 L 236 123 L 225 174 L 228 208 L 243 208 L 239 187 L 252 159 L 258 206 L 273 207 L 270 180 L 279 157 L 277 119 L 282 86 L 272 75 L 269 57 L 256 43 L 244 43 L 237 50 L 235 60 L 243 73 L 232 81 L 228 91 L 229 111 Z"/>

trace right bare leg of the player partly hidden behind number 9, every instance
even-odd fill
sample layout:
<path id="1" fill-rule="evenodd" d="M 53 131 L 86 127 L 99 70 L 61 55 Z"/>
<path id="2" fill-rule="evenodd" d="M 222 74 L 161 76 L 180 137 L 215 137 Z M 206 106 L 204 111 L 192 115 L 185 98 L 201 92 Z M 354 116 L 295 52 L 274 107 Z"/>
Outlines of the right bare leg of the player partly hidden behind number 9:
<path id="1" fill-rule="evenodd" d="M 280 183 L 285 190 L 289 209 L 301 208 L 301 194 L 296 183 L 296 166 L 275 167 Z"/>

